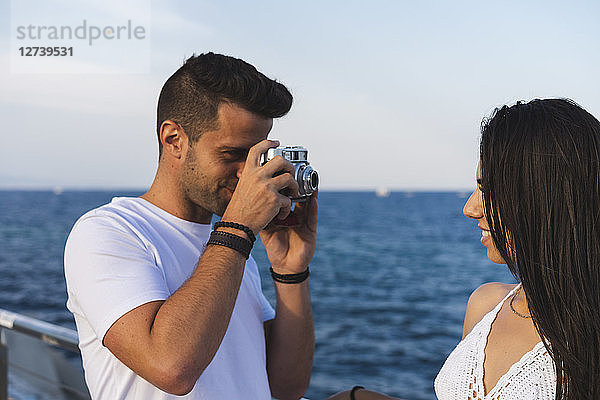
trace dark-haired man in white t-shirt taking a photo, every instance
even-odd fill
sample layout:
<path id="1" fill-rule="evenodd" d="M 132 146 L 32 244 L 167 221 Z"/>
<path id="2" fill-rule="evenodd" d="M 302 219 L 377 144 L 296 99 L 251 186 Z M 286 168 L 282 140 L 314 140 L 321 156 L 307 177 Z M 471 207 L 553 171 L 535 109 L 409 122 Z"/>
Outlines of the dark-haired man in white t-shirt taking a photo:
<path id="1" fill-rule="evenodd" d="M 191 57 L 165 83 L 152 186 L 85 214 L 66 244 L 67 306 L 94 399 L 284 400 L 306 391 L 317 200 L 296 205 L 299 224 L 276 224 L 292 206 L 280 191 L 298 192 L 294 169 L 281 157 L 259 162 L 279 144 L 266 138 L 291 103 L 280 83 L 213 53 Z M 233 224 L 210 233 L 213 214 Z M 276 312 L 246 260 L 259 232 Z"/>

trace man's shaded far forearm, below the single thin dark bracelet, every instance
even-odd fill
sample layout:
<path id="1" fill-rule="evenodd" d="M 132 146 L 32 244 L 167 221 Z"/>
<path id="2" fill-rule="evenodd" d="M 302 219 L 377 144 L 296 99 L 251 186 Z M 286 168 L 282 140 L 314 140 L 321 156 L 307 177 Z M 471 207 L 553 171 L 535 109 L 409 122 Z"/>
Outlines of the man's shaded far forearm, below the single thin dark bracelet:
<path id="1" fill-rule="evenodd" d="M 267 338 L 267 370 L 273 396 L 298 399 L 308 388 L 315 348 L 308 280 L 275 283 L 277 308 Z"/>

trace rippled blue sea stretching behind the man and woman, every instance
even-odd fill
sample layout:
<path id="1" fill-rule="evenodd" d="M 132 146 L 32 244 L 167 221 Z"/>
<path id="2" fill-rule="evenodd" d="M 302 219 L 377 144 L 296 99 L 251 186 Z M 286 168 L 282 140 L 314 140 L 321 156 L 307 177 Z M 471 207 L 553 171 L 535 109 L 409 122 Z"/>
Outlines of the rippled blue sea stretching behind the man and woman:
<path id="1" fill-rule="evenodd" d="M 74 329 L 65 306 L 67 235 L 86 211 L 140 194 L 0 191 L 0 308 Z M 476 222 L 462 214 L 467 197 L 319 193 L 310 266 L 316 349 L 307 398 L 362 385 L 402 399 L 435 399 L 433 380 L 460 340 L 470 293 L 484 282 L 514 282 L 505 265 L 486 257 Z M 253 256 L 274 305 L 262 244 Z M 11 380 L 9 395 L 34 398 Z"/>

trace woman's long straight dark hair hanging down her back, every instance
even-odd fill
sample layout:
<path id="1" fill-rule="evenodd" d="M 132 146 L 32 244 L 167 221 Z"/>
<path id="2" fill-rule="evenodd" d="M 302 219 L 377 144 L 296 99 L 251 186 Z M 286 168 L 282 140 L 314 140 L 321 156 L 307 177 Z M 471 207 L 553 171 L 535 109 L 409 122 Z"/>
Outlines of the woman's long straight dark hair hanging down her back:
<path id="1" fill-rule="evenodd" d="M 496 109 L 483 203 L 556 366 L 556 399 L 600 399 L 600 122 L 567 99 Z"/>

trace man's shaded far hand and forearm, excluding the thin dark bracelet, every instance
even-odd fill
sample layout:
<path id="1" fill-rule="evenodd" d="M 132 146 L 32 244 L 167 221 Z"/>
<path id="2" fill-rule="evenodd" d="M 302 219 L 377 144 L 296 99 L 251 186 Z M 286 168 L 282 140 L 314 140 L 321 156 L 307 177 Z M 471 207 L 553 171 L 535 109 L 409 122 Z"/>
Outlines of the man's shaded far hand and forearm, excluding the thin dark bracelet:
<path id="1" fill-rule="evenodd" d="M 318 194 L 296 204 L 295 226 L 271 224 L 260 232 L 273 270 L 296 274 L 308 267 L 317 242 Z M 271 393 L 278 399 L 298 399 L 310 382 L 315 348 L 309 280 L 275 283 L 275 319 L 265 324 L 267 372 Z"/>

